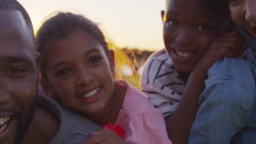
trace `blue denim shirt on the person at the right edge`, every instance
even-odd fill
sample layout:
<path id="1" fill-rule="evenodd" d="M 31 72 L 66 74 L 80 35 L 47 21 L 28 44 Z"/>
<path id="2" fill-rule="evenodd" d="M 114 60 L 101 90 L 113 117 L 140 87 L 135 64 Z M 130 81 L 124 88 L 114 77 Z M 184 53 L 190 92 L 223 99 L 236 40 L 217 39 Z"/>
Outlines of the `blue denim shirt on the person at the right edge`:
<path id="1" fill-rule="evenodd" d="M 237 31 L 247 50 L 208 70 L 188 144 L 256 144 L 256 39 Z"/>

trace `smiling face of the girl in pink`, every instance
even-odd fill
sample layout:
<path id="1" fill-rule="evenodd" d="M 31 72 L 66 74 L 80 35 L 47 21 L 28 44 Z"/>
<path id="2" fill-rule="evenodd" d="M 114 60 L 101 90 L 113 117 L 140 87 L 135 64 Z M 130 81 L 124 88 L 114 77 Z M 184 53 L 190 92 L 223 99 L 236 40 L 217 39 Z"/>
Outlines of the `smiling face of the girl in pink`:
<path id="1" fill-rule="evenodd" d="M 90 34 L 76 29 L 54 41 L 46 54 L 46 94 L 56 94 L 65 106 L 85 115 L 104 110 L 114 89 L 113 53 L 107 56 Z"/>

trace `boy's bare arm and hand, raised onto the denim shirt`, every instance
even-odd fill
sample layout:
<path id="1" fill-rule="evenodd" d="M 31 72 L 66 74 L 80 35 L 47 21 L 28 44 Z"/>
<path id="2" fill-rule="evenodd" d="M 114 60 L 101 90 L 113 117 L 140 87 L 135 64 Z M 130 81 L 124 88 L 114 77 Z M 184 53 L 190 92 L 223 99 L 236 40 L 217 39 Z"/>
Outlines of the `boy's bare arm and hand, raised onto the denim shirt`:
<path id="1" fill-rule="evenodd" d="M 217 60 L 224 56 L 239 58 L 245 49 L 243 39 L 237 32 L 216 38 L 208 51 L 200 58 L 192 70 L 181 102 L 173 115 L 166 117 L 168 136 L 174 144 L 186 144 L 190 127 L 199 107 L 198 100 L 203 92 L 207 71 Z"/>

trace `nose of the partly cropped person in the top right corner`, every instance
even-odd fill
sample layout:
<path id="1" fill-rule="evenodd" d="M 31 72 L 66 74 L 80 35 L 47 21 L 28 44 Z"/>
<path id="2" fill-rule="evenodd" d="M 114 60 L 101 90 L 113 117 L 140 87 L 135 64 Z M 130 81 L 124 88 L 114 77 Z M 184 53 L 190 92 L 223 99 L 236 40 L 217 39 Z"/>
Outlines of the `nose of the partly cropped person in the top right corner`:
<path id="1" fill-rule="evenodd" d="M 246 0 L 245 19 L 248 22 L 256 23 L 256 0 Z"/>

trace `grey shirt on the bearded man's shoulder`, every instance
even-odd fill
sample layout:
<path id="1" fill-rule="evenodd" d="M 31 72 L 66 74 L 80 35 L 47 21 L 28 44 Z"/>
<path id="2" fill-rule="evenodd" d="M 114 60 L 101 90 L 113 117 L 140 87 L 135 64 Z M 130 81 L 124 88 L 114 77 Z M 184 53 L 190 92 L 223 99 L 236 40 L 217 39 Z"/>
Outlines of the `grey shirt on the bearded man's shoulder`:
<path id="1" fill-rule="evenodd" d="M 38 104 L 53 112 L 59 119 L 59 131 L 50 144 L 80 143 L 90 137 L 90 133 L 99 130 L 99 126 L 76 112 L 60 107 L 55 101 L 46 96 L 39 96 Z"/>

